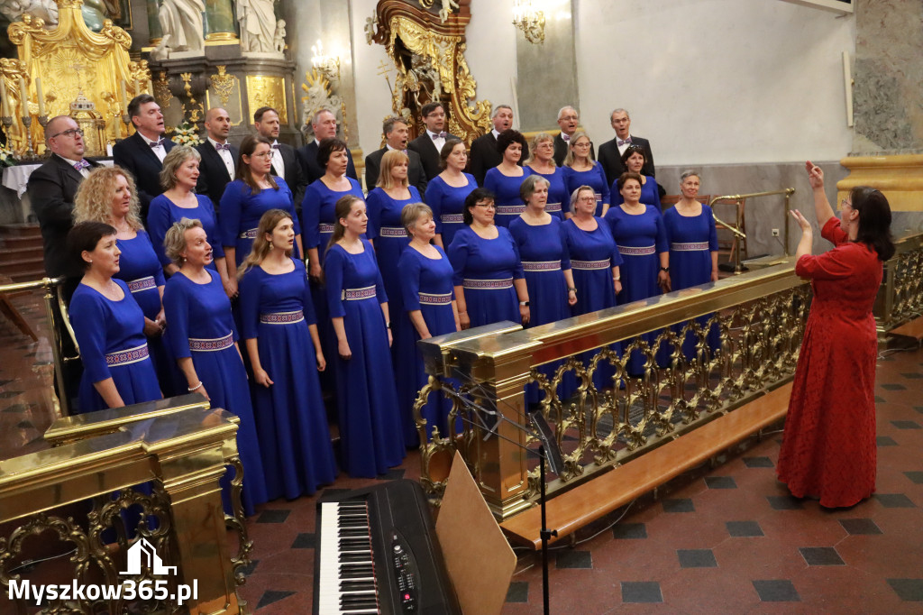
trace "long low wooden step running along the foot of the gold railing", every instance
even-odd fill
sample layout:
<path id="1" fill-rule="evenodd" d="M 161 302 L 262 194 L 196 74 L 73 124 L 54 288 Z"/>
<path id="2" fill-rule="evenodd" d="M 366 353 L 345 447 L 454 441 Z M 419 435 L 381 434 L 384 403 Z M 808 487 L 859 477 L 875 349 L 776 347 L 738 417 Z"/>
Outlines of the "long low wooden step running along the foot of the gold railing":
<path id="1" fill-rule="evenodd" d="M 671 478 L 707 461 L 785 416 L 791 382 L 766 392 L 725 416 L 689 431 L 637 459 L 548 500 L 547 524 L 557 529 L 555 542 L 612 513 Z M 500 524 L 510 541 L 541 549 L 541 508 L 533 506 Z"/>

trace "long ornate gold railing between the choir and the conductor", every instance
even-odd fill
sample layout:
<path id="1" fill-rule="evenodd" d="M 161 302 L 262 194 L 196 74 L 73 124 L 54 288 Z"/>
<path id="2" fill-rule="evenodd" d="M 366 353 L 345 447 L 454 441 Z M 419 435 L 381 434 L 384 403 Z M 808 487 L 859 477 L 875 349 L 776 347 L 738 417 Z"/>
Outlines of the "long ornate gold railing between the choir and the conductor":
<path id="1" fill-rule="evenodd" d="M 554 494 L 790 379 L 808 305 L 809 284 L 795 275 L 788 259 L 533 329 L 503 323 L 497 325 L 506 327 L 500 332 L 474 329 L 423 341 L 430 380 L 415 406 L 423 440 L 422 481 L 438 498 L 448 460 L 460 451 L 488 505 L 497 517 L 507 518 L 537 497 L 538 473 L 527 467 L 520 448 L 537 442 L 507 421 L 492 430 L 473 427 L 468 399 L 524 424 L 524 385 L 534 382 L 545 392 L 535 411 L 555 428 L 566 466 L 548 484 Z M 710 333 L 713 328 L 717 334 Z M 649 332 L 653 337 L 642 337 Z M 679 344 L 687 333 L 694 338 L 691 359 Z M 619 343 L 624 354 L 610 347 Z M 641 374 L 629 373 L 629 352 L 644 358 Z M 668 353 L 665 366 L 658 367 L 658 353 Z M 617 386 L 597 388 L 593 374 L 606 365 Z M 559 387 L 568 380 L 576 389 L 559 398 Z M 449 425 L 456 424 L 456 416 L 467 420 L 450 434 L 437 431 L 426 440 L 420 408 L 437 390 L 453 399 Z"/>

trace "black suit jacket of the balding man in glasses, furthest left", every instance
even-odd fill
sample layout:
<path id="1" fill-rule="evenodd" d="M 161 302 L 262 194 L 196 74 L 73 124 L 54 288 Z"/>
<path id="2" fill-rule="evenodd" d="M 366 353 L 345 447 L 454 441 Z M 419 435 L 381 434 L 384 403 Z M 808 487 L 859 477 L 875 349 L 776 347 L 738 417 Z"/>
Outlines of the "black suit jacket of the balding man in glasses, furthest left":
<path id="1" fill-rule="evenodd" d="M 87 160 L 90 166 L 100 166 Z M 67 232 L 74 225 L 74 196 L 83 181 L 83 175 L 66 160 L 52 154 L 42 166 L 29 176 L 26 187 L 32 211 L 39 219 L 44 243 L 45 271 L 57 277 L 79 278 L 83 274 L 80 263 L 67 252 Z"/>

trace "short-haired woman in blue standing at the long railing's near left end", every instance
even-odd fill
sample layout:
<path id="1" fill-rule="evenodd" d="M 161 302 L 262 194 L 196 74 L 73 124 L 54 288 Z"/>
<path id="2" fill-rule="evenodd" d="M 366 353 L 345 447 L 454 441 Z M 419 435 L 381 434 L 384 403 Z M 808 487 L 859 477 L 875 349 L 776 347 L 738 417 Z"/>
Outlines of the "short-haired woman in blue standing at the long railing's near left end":
<path id="1" fill-rule="evenodd" d="M 457 332 L 461 326 L 449 257 L 441 247 L 431 243 L 436 235 L 433 211 L 424 203 L 412 203 L 403 209 L 401 222 L 411 239 L 401 255 L 398 269 L 401 270 L 403 307 L 414 325 L 414 343 L 402 355 L 402 360 L 414 366 L 414 392 L 418 392 L 426 385 L 428 377 L 416 341 Z M 416 394 L 412 402 L 415 401 Z M 402 415 L 404 423 L 410 420 L 415 428 L 413 403 L 410 407 L 402 407 Z M 450 408 L 450 401 L 441 393 L 430 393 L 421 411 L 421 416 L 426 418 L 427 436 L 432 436 L 434 426 L 443 437 L 452 433 L 447 420 Z"/>

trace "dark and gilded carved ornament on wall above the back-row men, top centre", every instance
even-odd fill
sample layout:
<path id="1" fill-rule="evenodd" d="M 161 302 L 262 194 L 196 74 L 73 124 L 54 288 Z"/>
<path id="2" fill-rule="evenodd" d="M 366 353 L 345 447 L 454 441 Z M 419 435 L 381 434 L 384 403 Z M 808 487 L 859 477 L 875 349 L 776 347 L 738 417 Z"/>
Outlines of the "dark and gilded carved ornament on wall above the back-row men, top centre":
<path id="1" fill-rule="evenodd" d="M 448 110 L 449 132 L 471 144 L 491 126 L 491 103 L 474 100 L 477 82 L 464 57 L 471 0 L 433 5 L 433 0 L 380 0 L 366 21 L 366 38 L 385 45 L 397 68 L 394 114 L 413 118 L 418 134 L 420 109 L 438 100 Z"/>

